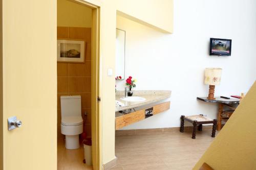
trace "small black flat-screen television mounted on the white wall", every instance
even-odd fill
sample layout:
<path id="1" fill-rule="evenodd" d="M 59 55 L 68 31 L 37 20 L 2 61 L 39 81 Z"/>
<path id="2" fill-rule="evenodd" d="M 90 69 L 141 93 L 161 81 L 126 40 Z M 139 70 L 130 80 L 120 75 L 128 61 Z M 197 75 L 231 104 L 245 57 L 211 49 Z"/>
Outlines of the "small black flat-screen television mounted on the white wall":
<path id="1" fill-rule="evenodd" d="M 210 38 L 210 56 L 231 56 L 231 39 Z"/>

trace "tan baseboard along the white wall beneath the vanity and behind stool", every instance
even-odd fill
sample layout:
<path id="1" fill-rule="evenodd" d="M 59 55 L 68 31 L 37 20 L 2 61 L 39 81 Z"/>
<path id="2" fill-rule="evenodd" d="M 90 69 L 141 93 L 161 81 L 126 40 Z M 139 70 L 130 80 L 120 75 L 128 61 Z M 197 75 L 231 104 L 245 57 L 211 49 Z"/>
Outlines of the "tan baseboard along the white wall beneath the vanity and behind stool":
<path id="1" fill-rule="evenodd" d="M 203 126 L 203 129 L 212 129 L 212 125 L 205 125 L 205 126 Z M 179 131 L 180 131 L 180 127 L 116 130 L 116 135 L 152 134 L 152 133 L 179 132 Z M 193 126 L 185 126 L 184 131 L 193 131 Z"/>

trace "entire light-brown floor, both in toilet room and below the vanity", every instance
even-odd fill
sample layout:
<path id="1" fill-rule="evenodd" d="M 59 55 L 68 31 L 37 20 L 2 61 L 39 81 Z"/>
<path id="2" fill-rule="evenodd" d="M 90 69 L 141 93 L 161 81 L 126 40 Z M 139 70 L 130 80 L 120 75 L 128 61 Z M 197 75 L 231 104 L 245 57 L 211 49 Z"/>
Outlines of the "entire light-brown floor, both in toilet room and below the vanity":
<path id="1" fill-rule="evenodd" d="M 117 165 L 111 170 L 190 170 L 214 140 L 211 130 L 197 131 L 196 139 L 191 139 L 191 134 L 163 132 L 116 136 Z M 93 169 L 82 160 L 82 147 L 66 150 L 64 140 L 58 140 L 58 170 Z"/>

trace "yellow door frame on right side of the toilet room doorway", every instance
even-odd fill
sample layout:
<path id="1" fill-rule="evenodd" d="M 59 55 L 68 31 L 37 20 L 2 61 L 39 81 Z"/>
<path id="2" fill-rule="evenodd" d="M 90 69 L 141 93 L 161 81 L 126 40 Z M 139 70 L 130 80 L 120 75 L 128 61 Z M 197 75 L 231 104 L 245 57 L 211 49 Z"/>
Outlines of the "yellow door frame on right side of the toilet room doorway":
<path id="1" fill-rule="evenodd" d="M 101 121 L 101 80 L 102 76 L 100 71 L 101 59 L 99 55 L 100 46 L 100 6 L 101 4 L 92 4 L 90 0 L 73 0 L 74 2 L 86 6 L 92 9 L 92 114 L 91 114 L 91 126 L 92 126 L 92 163 L 94 170 L 102 169 L 102 121 Z M 90 2 L 89 2 L 90 1 Z"/>

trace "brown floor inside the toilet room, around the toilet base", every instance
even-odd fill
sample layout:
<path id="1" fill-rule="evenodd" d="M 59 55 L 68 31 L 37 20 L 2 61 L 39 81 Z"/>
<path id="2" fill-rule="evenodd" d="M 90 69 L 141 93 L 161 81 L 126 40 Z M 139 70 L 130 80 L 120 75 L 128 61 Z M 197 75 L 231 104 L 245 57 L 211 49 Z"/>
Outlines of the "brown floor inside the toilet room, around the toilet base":
<path id="1" fill-rule="evenodd" d="M 64 139 L 58 139 L 58 170 L 92 170 L 92 166 L 83 163 L 82 145 L 77 150 L 67 150 Z"/>

